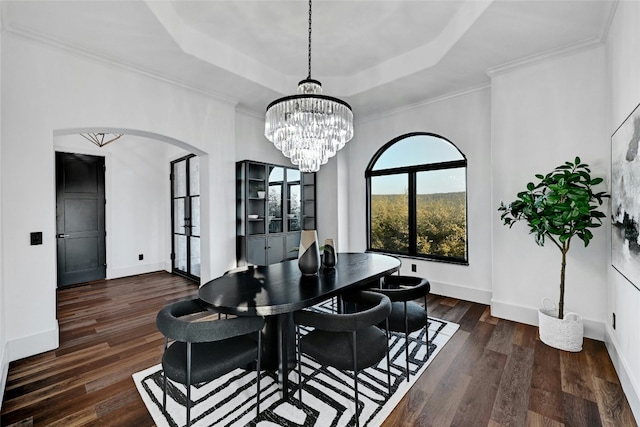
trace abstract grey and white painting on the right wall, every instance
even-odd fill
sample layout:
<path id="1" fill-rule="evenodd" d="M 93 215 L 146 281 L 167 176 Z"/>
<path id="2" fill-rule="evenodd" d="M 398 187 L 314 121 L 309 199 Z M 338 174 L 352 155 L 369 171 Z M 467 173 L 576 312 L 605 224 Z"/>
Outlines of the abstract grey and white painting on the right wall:
<path id="1" fill-rule="evenodd" d="M 611 264 L 640 290 L 640 105 L 611 136 Z"/>

